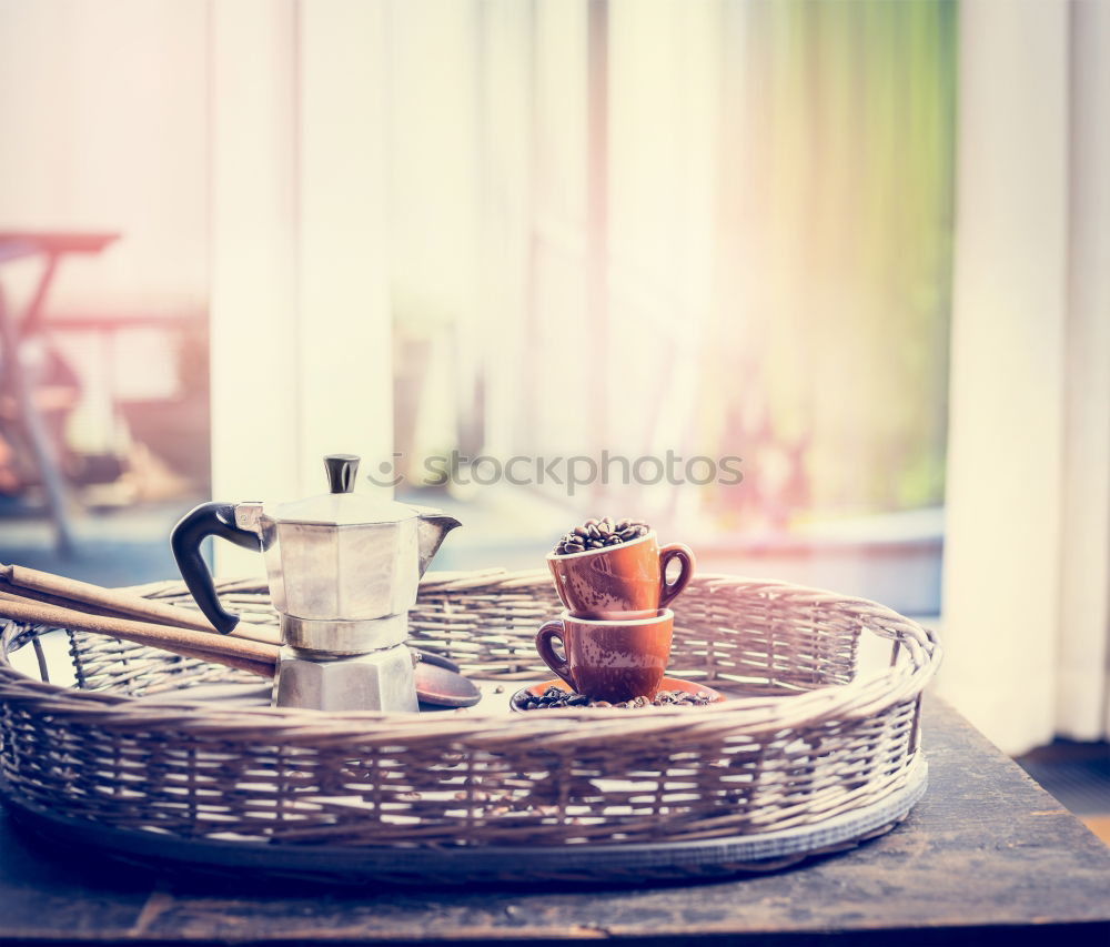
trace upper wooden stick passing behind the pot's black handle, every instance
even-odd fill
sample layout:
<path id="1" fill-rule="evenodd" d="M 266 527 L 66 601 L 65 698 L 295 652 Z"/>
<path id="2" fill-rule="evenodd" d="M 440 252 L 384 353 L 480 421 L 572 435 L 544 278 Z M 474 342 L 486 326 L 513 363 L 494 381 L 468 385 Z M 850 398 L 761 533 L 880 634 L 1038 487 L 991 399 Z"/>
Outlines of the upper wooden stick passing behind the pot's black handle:
<path id="1" fill-rule="evenodd" d="M 65 578 L 61 575 L 21 565 L 0 565 L 0 587 L 10 594 L 26 595 L 26 597 L 39 602 L 89 614 L 138 618 L 176 628 L 216 633 L 208 618 L 200 612 L 179 608 L 164 602 L 142 598 L 130 592 L 103 588 L 89 582 L 79 582 L 74 578 Z M 276 631 L 252 625 L 249 622 L 240 622 L 233 634 L 250 641 L 279 643 Z"/>

